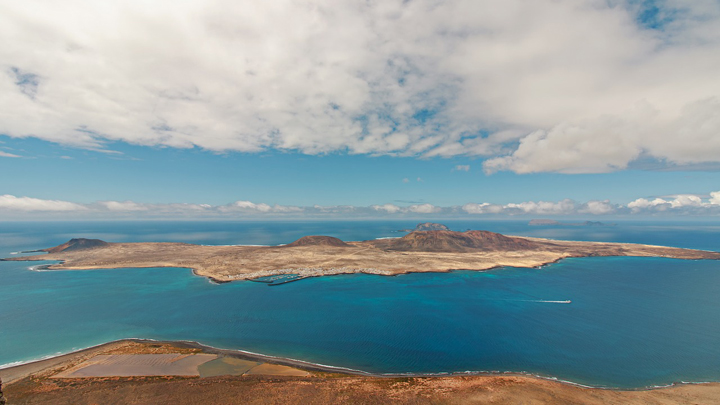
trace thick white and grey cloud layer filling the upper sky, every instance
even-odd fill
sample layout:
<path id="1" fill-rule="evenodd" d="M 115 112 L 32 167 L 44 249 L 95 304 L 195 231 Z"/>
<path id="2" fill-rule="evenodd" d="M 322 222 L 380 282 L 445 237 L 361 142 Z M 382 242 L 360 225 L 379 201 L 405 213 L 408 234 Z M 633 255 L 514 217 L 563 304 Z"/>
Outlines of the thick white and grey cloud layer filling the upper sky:
<path id="1" fill-rule="evenodd" d="M 12 137 L 487 172 L 720 161 L 711 0 L 16 1 L 0 39 Z"/>

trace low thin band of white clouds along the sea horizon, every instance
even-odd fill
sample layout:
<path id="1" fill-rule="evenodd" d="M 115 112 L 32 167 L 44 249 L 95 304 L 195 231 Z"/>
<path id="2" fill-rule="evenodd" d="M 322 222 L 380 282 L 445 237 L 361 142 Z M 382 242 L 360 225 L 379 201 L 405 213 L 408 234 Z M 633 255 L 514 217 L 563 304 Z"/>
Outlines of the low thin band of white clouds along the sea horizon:
<path id="1" fill-rule="evenodd" d="M 512 217 L 512 216 L 658 216 L 720 215 L 720 191 L 707 196 L 679 194 L 670 197 L 638 198 L 626 205 L 608 200 L 579 203 L 561 201 L 525 201 L 509 204 L 468 203 L 440 207 L 433 204 L 395 204 L 358 207 L 269 205 L 235 201 L 227 205 L 144 204 L 133 201 L 98 201 L 78 204 L 69 201 L 31 197 L 0 196 L 0 218 L 392 218 L 392 217 Z"/>

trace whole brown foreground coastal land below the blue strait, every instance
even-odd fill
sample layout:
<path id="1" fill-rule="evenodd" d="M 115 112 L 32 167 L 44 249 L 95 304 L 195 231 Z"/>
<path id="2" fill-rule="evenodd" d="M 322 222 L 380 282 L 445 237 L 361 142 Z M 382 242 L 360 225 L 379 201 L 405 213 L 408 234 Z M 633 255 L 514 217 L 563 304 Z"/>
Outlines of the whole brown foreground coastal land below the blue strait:
<path id="1" fill-rule="evenodd" d="M 129 370 L 106 367 L 105 377 L 83 370 L 112 358 L 210 360 L 193 375 L 159 374 L 142 361 Z M 116 361 L 117 362 L 117 361 Z M 140 364 L 137 364 L 140 363 Z M 215 363 L 215 364 L 213 364 Z M 215 366 L 217 363 L 221 367 Z M 162 368 L 161 367 L 156 368 Z M 215 366 L 215 367 L 210 367 Z M 144 369 L 144 370 L 141 370 Z M 221 372 L 215 371 L 220 369 Z M 97 370 L 97 368 L 96 368 Z M 146 371 L 142 373 L 142 371 Z M 63 378 L 63 374 L 72 374 Z M 125 339 L 56 358 L 0 370 L 12 403 L 236 404 L 244 403 L 715 403 L 720 384 L 681 384 L 622 391 L 583 387 L 531 375 L 373 376 L 259 354 L 215 349 L 194 342 Z M 153 377 L 155 376 L 155 377 Z M 2 403 L 0 401 L 0 403 Z"/>

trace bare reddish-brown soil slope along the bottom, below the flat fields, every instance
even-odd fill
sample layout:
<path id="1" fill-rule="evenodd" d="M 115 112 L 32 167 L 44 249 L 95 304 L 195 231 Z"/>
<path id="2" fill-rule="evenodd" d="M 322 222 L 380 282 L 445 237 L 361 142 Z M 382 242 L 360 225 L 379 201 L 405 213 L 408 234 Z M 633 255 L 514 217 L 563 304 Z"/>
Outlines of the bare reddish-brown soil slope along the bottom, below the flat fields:
<path id="1" fill-rule="evenodd" d="M 720 384 L 652 391 L 586 389 L 515 376 L 135 377 L 27 379 L 11 404 L 716 404 Z"/>

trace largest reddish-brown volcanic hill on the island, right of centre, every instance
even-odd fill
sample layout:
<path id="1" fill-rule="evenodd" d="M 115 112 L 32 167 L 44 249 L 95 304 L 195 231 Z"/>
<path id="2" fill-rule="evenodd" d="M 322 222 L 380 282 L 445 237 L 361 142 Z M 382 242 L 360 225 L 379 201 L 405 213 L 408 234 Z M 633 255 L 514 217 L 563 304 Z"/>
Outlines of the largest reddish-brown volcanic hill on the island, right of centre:
<path id="1" fill-rule="evenodd" d="M 406 252 L 534 250 L 542 245 L 488 231 L 416 231 L 398 239 L 373 241 L 380 249 Z"/>

